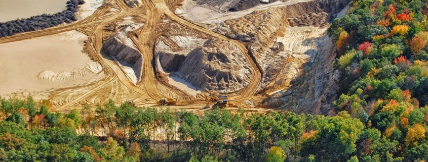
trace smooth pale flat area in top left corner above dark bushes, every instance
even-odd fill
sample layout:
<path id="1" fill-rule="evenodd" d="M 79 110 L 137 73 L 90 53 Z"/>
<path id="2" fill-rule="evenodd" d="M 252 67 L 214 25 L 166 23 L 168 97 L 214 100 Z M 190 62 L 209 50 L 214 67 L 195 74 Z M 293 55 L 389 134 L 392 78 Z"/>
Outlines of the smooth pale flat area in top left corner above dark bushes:
<path id="1" fill-rule="evenodd" d="M 66 9 L 67 0 L 0 0 L 0 22 L 56 14 Z"/>

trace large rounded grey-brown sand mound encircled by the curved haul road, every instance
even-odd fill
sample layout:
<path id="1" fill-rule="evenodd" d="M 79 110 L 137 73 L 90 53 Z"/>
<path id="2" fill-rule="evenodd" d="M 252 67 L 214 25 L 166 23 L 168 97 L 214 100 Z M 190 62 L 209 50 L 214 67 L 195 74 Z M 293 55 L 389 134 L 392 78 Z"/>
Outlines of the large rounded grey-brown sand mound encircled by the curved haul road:
<path id="1" fill-rule="evenodd" d="M 239 48 L 217 39 L 208 40 L 204 46 L 188 53 L 178 72 L 199 89 L 218 92 L 240 90 L 252 76 Z"/>

